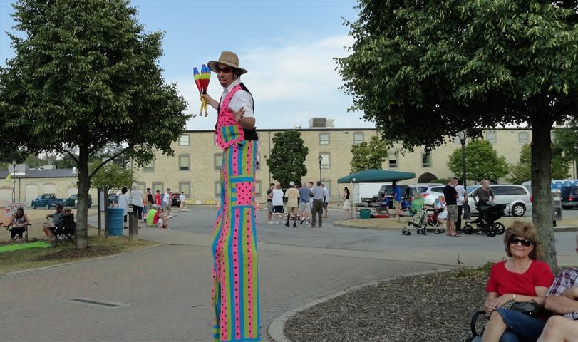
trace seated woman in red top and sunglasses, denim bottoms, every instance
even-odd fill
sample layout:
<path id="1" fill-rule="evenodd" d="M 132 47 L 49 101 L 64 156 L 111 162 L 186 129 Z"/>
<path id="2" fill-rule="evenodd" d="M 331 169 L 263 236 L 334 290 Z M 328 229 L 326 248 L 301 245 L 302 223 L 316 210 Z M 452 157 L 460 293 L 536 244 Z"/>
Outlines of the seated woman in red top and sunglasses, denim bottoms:
<path id="1" fill-rule="evenodd" d="M 500 306 L 512 300 L 533 300 L 543 304 L 546 291 L 554 281 L 554 274 L 548 264 L 537 260 L 542 257 L 542 248 L 532 224 L 514 222 L 512 227 L 506 229 L 504 243 L 511 259 L 492 266 L 484 304 L 490 321 L 485 328 L 483 341 L 537 341 L 545 321 Z"/>

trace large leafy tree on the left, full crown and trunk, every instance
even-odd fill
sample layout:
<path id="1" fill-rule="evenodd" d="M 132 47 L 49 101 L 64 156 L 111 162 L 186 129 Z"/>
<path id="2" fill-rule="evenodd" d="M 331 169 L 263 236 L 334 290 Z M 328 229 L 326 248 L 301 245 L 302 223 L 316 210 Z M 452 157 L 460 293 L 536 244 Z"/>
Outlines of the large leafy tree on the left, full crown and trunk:
<path id="1" fill-rule="evenodd" d="M 82 249 L 91 177 L 117 157 L 89 172 L 91 155 L 107 144 L 141 163 L 155 150 L 172 154 L 186 102 L 162 78 L 162 33 L 145 33 L 128 0 L 20 0 L 14 9 L 21 33 L 10 34 L 16 56 L 0 70 L 1 135 L 76 161 Z"/>

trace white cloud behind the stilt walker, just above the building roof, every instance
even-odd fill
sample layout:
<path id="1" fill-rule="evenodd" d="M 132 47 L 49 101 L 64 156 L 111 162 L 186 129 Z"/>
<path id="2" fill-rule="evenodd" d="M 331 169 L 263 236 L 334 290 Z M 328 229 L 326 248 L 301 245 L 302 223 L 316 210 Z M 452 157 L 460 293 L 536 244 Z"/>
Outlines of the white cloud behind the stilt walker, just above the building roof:
<path id="1" fill-rule="evenodd" d="M 304 41 L 282 47 L 259 46 L 239 51 L 239 61 L 249 73 L 242 76 L 255 98 L 258 128 L 307 127 L 309 118 L 333 118 L 337 128 L 373 127 L 359 120 L 362 113 L 347 113 L 351 96 L 338 88 L 343 81 L 335 70 L 334 58 L 346 56 L 344 46 L 351 46 L 349 36 L 332 36 L 318 41 Z M 177 88 L 189 101 L 190 113 L 198 113 L 198 90 L 191 75 L 177 81 Z M 222 88 L 213 75 L 209 93 L 218 98 Z M 210 118 L 194 118 L 188 128 L 211 129 Z"/>

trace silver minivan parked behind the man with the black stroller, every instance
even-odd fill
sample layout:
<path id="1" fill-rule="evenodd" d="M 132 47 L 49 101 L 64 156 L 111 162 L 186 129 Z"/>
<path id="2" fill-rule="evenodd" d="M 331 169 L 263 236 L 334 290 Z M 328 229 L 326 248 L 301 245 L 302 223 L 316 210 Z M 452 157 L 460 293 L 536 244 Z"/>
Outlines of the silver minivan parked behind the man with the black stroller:
<path id="1" fill-rule="evenodd" d="M 532 195 L 523 185 L 515 184 L 494 184 L 490 185 L 494 192 L 495 204 L 506 204 L 506 212 L 511 212 L 513 216 L 524 216 L 526 211 L 532 210 Z M 468 204 L 472 214 L 477 214 L 472 192 L 474 187 L 468 187 Z"/>

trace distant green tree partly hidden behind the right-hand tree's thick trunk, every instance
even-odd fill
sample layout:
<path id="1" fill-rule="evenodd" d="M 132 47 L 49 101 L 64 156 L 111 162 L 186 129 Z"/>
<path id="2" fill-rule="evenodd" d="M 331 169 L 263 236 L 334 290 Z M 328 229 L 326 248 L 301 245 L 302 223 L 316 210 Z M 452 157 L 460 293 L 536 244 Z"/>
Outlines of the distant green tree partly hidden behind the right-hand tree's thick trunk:
<path id="1" fill-rule="evenodd" d="M 531 151 L 530 145 L 525 144 L 520 150 L 520 161 L 515 165 L 510 166 L 510 175 L 507 177 L 508 182 L 514 184 L 522 184 L 527 180 L 530 180 L 530 165 L 531 161 Z M 568 175 L 568 162 L 562 156 L 560 150 L 554 148 L 552 155 L 552 165 L 551 165 L 552 179 L 553 180 L 563 180 L 569 177 Z"/>

